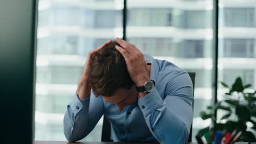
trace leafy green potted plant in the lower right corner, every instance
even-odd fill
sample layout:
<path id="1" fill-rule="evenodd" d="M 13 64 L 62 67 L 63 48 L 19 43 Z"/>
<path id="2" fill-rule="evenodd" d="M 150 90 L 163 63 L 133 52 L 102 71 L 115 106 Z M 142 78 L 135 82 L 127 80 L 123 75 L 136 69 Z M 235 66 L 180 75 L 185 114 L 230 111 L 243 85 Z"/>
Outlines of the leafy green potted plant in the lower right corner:
<path id="1" fill-rule="evenodd" d="M 255 141 L 252 131 L 256 131 L 256 91 L 245 92 L 251 84 L 243 85 L 241 77 L 237 77 L 231 87 L 224 82 L 220 82 L 223 87 L 228 88 L 223 100 L 218 101 L 215 106 L 207 106 L 206 111 L 201 112 L 202 119 L 212 120 L 214 134 L 217 130 L 227 130 L 230 133 L 235 129 L 240 129 L 242 135 L 237 141 Z M 218 116 L 218 111 L 225 113 Z M 251 125 L 250 130 L 247 124 Z M 203 128 L 197 135 L 208 133 L 210 127 Z"/>

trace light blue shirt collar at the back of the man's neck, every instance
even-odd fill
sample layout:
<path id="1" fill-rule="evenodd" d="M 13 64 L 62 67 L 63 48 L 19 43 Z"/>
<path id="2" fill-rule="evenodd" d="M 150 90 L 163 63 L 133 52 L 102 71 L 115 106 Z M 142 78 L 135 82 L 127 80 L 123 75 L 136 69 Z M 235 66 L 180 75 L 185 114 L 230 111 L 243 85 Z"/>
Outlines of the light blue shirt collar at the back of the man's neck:
<path id="1" fill-rule="evenodd" d="M 156 83 L 158 81 L 159 65 L 150 55 L 144 54 L 144 59 L 147 63 L 151 63 L 150 79 L 154 80 Z"/>

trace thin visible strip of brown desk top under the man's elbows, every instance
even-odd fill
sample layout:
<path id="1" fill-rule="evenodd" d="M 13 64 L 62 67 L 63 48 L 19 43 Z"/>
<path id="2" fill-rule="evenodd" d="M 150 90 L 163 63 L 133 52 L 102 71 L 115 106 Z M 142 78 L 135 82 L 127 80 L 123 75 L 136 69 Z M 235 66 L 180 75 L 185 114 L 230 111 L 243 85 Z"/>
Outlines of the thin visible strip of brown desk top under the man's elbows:
<path id="1" fill-rule="evenodd" d="M 157 144 L 139 142 L 67 142 L 67 141 L 34 141 L 33 144 Z M 195 142 L 187 144 L 196 144 Z M 248 142 L 236 142 L 236 144 L 248 144 Z"/>

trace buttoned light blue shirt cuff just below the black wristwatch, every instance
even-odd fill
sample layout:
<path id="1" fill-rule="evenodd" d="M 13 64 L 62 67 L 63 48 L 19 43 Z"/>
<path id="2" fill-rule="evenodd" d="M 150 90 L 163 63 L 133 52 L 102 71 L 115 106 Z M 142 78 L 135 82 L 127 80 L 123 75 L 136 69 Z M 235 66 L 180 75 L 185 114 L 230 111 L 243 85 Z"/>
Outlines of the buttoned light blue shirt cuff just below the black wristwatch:
<path id="1" fill-rule="evenodd" d="M 145 97 L 138 99 L 138 105 L 146 117 L 164 103 L 155 87 Z"/>

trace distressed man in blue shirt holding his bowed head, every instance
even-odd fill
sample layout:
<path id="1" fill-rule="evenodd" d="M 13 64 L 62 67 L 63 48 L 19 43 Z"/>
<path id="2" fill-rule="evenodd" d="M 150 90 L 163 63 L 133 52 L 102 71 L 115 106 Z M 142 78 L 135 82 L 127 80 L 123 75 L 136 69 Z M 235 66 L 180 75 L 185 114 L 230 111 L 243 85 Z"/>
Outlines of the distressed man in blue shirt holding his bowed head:
<path id="1" fill-rule="evenodd" d="M 186 71 L 117 38 L 90 51 L 64 133 L 68 141 L 81 140 L 104 114 L 114 141 L 186 143 L 192 101 Z"/>

